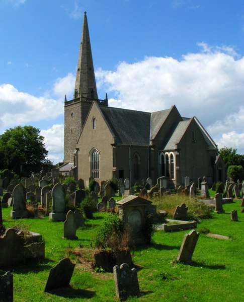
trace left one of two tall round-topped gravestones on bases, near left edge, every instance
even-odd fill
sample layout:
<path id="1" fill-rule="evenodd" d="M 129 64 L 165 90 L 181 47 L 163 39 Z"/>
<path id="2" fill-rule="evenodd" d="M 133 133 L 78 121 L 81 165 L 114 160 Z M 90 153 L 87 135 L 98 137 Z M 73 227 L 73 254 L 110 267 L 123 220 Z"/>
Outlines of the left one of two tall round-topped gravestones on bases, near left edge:
<path id="1" fill-rule="evenodd" d="M 13 219 L 26 218 L 28 211 L 26 209 L 26 189 L 21 185 L 17 185 L 13 190 L 13 210 L 10 212 Z"/>

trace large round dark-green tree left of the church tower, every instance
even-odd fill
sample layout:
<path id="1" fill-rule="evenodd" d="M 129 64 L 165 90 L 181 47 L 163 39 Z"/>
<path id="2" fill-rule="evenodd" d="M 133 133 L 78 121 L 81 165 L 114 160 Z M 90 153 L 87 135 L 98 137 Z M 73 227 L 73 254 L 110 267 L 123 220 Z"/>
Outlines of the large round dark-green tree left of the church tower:
<path id="1" fill-rule="evenodd" d="M 19 175 L 41 170 L 48 151 L 40 130 L 32 126 L 10 128 L 0 135 L 0 169 Z"/>

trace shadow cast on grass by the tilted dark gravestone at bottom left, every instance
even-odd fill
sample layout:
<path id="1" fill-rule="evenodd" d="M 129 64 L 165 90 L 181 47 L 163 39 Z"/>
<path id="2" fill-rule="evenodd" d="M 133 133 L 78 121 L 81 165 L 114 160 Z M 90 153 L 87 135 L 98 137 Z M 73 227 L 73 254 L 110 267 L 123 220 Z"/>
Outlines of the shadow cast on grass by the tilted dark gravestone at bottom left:
<path id="1" fill-rule="evenodd" d="M 57 288 L 48 291 L 49 293 L 57 296 L 62 296 L 64 298 L 74 299 L 74 298 L 92 298 L 95 295 L 95 291 L 86 289 L 77 289 L 72 286 L 65 288 Z"/>

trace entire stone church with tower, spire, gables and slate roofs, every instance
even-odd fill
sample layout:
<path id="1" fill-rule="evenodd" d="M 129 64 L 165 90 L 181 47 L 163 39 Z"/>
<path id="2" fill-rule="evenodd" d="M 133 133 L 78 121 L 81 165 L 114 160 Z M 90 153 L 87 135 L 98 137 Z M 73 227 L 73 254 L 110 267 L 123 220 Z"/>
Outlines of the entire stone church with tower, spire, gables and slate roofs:
<path id="1" fill-rule="evenodd" d="M 164 176 L 168 188 L 225 180 L 217 145 L 197 117 L 182 117 L 176 106 L 143 112 L 108 105 L 96 87 L 87 15 L 84 15 L 72 100 L 64 103 L 64 162 L 72 163 L 77 179 L 88 186 L 110 178 L 128 178 L 130 185 Z"/>

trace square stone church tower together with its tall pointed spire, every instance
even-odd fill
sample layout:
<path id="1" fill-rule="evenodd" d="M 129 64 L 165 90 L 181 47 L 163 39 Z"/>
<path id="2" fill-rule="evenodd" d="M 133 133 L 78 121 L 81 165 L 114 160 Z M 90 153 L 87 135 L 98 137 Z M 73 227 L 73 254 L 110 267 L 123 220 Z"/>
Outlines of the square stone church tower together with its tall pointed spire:
<path id="1" fill-rule="evenodd" d="M 65 96 L 64 100 L 64 162 L 74 161 L 76 143 L 93 101 L 98 102 L 101 106 L 108 106 L 107 96 L 105 100 L 98 99 L 87 13 L 85 12 L 73 99 L 67 101 Z"/>

